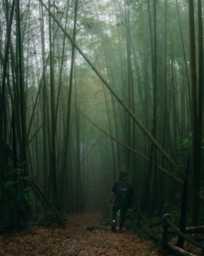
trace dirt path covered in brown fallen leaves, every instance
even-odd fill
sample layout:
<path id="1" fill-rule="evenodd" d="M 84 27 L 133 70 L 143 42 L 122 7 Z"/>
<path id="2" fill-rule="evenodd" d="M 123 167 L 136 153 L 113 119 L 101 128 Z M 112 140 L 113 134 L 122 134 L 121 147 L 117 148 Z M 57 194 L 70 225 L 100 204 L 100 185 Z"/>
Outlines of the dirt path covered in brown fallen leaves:
<path id="1" fill-rule="evenodd" d="M 0 255 L 161 255 L 152 241 L 142 241 L 125 229 L 116 229 L 115 232 L 87 231 L 87 226 L 101 226 L 100 221 L 103 220 L 94 207 L 66 218 L 68 221 L 64 230 L 54 225 L 49 228 L 33 227 L 24 232 L 15 230 L 2 235 Z M 118 247 L 118 250 L 108 246 Z"/>

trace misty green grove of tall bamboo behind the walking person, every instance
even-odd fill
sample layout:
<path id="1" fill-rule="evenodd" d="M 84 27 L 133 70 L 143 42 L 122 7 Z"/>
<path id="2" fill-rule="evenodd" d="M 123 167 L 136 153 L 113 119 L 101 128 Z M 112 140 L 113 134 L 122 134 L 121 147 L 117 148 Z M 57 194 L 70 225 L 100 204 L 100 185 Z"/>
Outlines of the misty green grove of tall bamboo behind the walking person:
<path id="1" fill-rule="evenodd" d="M 121 169 L 133 206 L 161 215 L 189 154 L 203 221 L 202 15 L 201 0 L 1 0 L 1 224 L 37 202 L 83 211 Z"/>

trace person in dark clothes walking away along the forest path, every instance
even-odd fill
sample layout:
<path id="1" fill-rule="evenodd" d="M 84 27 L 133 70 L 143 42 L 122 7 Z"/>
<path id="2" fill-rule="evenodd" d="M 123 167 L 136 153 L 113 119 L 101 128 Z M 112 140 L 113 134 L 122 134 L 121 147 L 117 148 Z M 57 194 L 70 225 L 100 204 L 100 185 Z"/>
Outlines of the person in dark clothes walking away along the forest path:
<path id="1" fill-rule="evenodd" d="M 132 200 L 132 186 L 128 182 L 127 172 L 125 170 L 121 170 L 118 176 L 118 181 L 115 182 L 112 194 L 111 194 L 111 205 L 113 205 L 112 210 L 112 226 L 111 230 L 115 230 L 117 226 L 116 217 L 117 211 L 121 210 L 121 221 L 120 221 L 120 230 L 123 228 L 125 222 L 125 214 L 128 208 L 131 205 Z M 113 198 L 115 196 L 115 200 L 113 203 Z"/>

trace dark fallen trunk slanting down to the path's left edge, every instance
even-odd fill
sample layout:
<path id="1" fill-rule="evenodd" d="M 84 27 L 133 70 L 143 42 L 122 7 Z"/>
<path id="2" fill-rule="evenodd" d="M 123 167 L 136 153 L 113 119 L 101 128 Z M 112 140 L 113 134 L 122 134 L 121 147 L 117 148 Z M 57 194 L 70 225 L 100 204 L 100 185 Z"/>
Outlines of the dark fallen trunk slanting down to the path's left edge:
<path id="1" fill-rule="evenodd" d="M 8 152 L 13 155 L 13 150 L 12 148 L 8 145 L 8 143 L 5 141 L 4 137 L 2 136 L 2 140 L 4 142 L 4 145 L 6 146 L 6 149 L 8 150 Z M 19 160 L 19 158 L 17 157 L 17 162 L 19 164 L 22 165 L 21 161 Z M 33 186 L 36 187 L 36 189 L 38 190 L 39 194 L 45 199 L 45 202 L 50 206 L 50 208 L 55 212 L 55 214 L 57 215 L 58 219 L 60 220 L 60 222 L 62 223 L 62 227 L 65 228 L 65 223 L 62 219 L 62 216 L 60 215 L 60 213 L 57 211 L 56 207 L 53 205 L 53 203 L 49 200 L 49 198 L 45 195 L 45 193 L 43 192 L 43 190 L 41 190 L 41 188 L 38 186 L 38 183 L 31 177 L 30 173 L 27 170 L 24 170 L 24 172 L 30 177 Z M 32 188 L 32 187 L 31 187 Z"/>

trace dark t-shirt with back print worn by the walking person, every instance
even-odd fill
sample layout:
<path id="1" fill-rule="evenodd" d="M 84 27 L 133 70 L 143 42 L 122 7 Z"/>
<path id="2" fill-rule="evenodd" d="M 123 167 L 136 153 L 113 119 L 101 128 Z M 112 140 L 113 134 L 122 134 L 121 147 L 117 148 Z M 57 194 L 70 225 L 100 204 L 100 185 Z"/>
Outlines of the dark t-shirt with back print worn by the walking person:
<path id="1" fill-rule="evenodd" d="M 129 182 L 123 184 L 120 181 L 116 181 L 112 192 L 115 193 L 114 205 L 118 207 L 130 207 L 132 199 L 132 186 Z"/>

